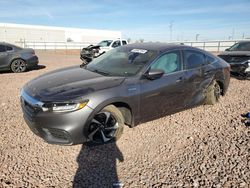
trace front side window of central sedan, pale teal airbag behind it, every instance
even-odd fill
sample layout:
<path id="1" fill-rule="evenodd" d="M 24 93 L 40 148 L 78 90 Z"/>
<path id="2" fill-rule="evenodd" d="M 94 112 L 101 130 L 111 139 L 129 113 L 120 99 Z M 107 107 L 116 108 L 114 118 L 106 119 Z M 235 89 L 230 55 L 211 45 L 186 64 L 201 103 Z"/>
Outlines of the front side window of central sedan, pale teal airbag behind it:
<path id="1" fill-rule="evenodd" d="M 181 55 L 179 51 L 173 51 L 162 55 L 151 66 L 152 69 L 161 69 L 166 73 L 181 70 Z"/>

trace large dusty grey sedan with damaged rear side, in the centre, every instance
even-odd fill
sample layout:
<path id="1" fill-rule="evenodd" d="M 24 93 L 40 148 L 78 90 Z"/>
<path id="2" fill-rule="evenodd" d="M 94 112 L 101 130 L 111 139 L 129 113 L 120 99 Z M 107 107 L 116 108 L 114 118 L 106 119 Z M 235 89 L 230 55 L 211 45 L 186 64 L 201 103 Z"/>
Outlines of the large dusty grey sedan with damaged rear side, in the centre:
<path id="1" fill-rule="evenodd" d="M 49 143 L 103 144 L 120 138 L 125 125 L 215 104 L 229 80 L 229 64 L 203 50 L 129 44 L 81 68 L 31 80 L 21 90 L 21 106 L 31 130 Z"/>

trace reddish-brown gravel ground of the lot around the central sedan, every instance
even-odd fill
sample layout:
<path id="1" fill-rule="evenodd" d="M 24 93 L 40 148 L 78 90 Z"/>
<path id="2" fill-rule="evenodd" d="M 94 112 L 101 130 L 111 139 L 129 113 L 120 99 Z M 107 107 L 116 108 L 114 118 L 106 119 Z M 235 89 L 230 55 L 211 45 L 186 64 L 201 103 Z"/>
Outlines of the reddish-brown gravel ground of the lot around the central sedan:
<path id="1" fill-rule="evenodd" d="M 116 144 L 49 145 L 25 124 L 21 87 L 78 55 L 39 53 L 46 68 L 1 73 L 0 187 L 250 187 L 249 81 L 231 79 L 215 106 L 200 106 L 126 128 Z"/>

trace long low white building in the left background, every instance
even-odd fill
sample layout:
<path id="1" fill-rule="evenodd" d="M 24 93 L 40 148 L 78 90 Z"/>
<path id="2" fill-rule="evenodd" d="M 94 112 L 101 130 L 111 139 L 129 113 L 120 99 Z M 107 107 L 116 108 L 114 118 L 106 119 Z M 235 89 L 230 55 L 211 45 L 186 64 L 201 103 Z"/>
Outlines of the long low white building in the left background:
<path id="1" fill-rule="evenodd" d="M 121 38 L 120 31 L 50 27 L 0 23 L 0 41 L 26 43 L 97 43 L 104 39 Z"/>

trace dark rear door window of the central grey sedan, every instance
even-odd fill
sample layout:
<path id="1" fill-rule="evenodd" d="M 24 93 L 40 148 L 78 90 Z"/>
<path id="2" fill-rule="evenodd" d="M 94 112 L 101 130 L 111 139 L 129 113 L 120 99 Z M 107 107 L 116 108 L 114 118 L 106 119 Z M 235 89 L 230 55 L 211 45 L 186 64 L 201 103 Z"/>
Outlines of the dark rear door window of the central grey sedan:
<path id="1" fill-rule="evenodd" d="M 205 55 L 192 50 L 184 50 L 186 69 L 193 69 L 205 65 Z"/>

